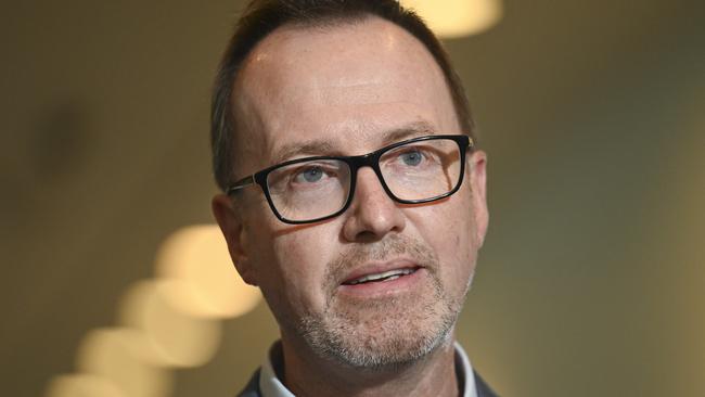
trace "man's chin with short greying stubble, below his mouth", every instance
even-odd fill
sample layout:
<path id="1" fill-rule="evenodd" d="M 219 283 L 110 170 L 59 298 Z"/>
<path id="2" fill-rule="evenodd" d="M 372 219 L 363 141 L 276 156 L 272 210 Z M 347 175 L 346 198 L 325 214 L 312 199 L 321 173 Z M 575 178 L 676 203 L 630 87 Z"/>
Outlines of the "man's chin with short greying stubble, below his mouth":
<path id="1" fill-rule="evenodd" d="M 426 304 L 386 300 L 380 307 L 309 315 L 298 331 L 319 357 L 357 370 L 383 372 L 423 360 L 452 342 L 461 303 L 435 296 Z"/>

